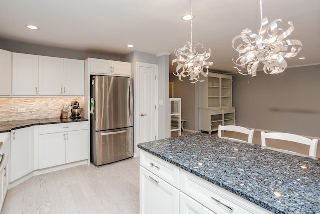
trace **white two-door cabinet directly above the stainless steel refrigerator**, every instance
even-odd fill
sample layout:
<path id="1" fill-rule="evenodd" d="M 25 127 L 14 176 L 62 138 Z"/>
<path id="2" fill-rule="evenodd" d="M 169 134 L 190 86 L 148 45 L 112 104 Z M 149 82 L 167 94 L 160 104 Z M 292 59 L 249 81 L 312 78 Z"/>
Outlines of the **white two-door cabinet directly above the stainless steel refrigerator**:
<path id="1" fill-rule="evenodd" d="M 131 77 L 131 63 L 94 58 L 87 58 L 86 62 L 89 74 Z"/>

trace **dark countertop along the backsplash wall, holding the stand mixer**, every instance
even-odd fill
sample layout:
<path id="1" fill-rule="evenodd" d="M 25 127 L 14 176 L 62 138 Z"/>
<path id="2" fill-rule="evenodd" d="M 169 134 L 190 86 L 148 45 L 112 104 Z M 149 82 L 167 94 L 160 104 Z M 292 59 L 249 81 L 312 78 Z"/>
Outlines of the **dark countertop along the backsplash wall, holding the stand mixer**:
<path id="1" fill-rule="evenodd" d="M 80 119 L 61 119 L 59 117 L 56 118 L 40 118 L 40 119 L 32 119 L 32 120 L 13 120 L 13 121 L 3 121 L 0 122 L 0 133 L 1 132 L 10 132 L 14 129 L 25 128 L 34 125 L 46 125 L 46 124 L 55 124 L 55 123 L 71 123 L 71 122 L 82 122 L 88 121 L 87 118 L 81 117 Z"/>

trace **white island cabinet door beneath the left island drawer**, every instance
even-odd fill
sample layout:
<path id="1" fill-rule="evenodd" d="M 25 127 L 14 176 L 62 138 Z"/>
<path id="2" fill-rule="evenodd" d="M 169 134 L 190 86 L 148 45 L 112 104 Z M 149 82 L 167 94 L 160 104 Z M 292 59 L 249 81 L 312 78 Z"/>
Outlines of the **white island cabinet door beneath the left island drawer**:
<path id="1" fill-rule="evenodd" d="M 179 190 L 140 166 L 140 214 L 179 213 Z"/>

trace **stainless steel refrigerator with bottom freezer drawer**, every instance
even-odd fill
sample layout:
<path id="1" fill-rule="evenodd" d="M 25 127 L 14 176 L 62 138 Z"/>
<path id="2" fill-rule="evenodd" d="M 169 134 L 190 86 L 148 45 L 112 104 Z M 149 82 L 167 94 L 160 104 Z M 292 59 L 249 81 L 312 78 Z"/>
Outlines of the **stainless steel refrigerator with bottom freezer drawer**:
<path id="1" fill-rule="evenodd" d="M 91 76 L 91 162 L 103 165 L 133 156 L 132 79 Z M 91 106 L 92 108 L 92 106 Z"/>

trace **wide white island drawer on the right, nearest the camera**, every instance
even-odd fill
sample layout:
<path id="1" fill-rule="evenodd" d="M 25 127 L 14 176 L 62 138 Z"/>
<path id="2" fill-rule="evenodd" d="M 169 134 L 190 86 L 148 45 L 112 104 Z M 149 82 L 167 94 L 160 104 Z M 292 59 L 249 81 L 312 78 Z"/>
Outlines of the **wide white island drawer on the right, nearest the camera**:
<path id="1" fill-rule="evenodd" d="M 184 170 L 181 170 L 181 191 L 217 214 L 271 213 L 248 200 Z"/>

